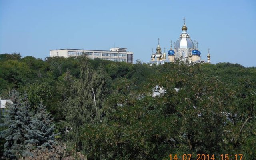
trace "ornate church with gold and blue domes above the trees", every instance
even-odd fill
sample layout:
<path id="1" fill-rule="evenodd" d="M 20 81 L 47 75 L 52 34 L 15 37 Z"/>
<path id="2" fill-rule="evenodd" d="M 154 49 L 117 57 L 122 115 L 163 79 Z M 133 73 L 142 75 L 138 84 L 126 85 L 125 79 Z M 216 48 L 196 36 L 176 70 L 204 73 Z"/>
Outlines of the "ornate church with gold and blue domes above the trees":
<path id="1" fill-rule="evenodd" d="M 188 28 L 185 24 L 185 18 L 184 25 L 181 29 L 182 33 L 180 34 L 180 38 L 173 43 L 174 49 L 172 49 L 171 41 L 171 47 L 168 51 L 168 55 L 165 52 L 162 53 L 158 38 L 156 53 L 151 55 L 151 61 L 148 63 L 158 65 L 166 62 L 174 62 L 175 59 L 180 59 L 183 61 L 188 60 L 189 63 L 210 63 L 210 50 L 208 49 L 207 60 L 201 59 L 201 52 L 198 50 L 198 42 L 194 41 L 193 43 L 189 34 L 187 34 Z"/>

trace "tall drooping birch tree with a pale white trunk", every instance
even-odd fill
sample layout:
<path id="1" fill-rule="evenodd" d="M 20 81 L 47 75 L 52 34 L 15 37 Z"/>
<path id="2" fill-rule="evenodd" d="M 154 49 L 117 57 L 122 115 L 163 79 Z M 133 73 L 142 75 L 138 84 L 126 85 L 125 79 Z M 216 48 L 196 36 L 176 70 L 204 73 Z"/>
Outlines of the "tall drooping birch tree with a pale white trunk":
<path id="1" fill-rule="evenodd" d="M 77 150 L 83 150 L 85 144 L 80 139 L 84 125 L 99 123 L 102 117 L 102 105 L 108 95 L 109 77 L 91 69 L 86 56 L 79 57 L 80 78 L 74 82 L 75 94 L 66 102 L 66 120 L 72 126 L 72 139 Z"/>

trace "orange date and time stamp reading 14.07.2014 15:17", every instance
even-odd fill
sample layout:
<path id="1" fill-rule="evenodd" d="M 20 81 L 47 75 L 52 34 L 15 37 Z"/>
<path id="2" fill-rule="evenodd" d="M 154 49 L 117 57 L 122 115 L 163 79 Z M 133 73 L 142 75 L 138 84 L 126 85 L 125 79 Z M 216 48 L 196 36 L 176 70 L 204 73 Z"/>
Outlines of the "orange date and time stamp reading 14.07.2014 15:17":
<path id="1" fill-rule="evenodd" d="M 177 154 L 170 154 L 170 160 L 215 160 L 214 154 L 197 154 L 196 158 L 191 158 L 192 154 L 183 154 L 182 156 L 178 156 Z M 243 154 L 221 154 L 218 156 L 220 160 L 244 160 Z"/>

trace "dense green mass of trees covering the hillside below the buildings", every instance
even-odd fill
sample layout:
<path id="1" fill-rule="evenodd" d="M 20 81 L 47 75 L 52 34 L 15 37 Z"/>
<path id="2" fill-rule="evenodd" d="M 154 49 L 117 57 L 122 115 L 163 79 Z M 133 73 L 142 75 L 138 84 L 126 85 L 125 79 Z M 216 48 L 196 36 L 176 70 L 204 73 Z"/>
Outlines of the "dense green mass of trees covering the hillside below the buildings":
<path id="1" fill-rule="evenodd" d="M 34 146 L 29 149 L 34 157 L 52 159 L 168 160 L 170 154 L 179 158 L 192 154 L 191 159 L 197 154 L 214 154 L 216 160 L 221 154 L 230 159 L 235 154 L 243 154 L 244 160 L 256 158 L 253 67 L 179 60 L 149 66 L 85 56 L 43 61 L 15 53 L 0 55 L 0 84 L 2 99 L 10 99 L 13 89 L 27 99 L 20 100 L 23 107 L 5 112 L 18 115 L 22 110 L 20 115 L 27 119 L 0 119 L 5 122 L 0 145 L 10 146 L 1 149 L 6 159 L 11 154 L 17 158 L 16 153 L 29 144 Z M 34 116 L 24 114 L 24 108 Z M 28 123 L 25 119 L 29 125 L 21 124 Z M 10 132 L 11 124 L 20 127 L 19 132 Z M 21 140 L 8 138 L 14 134 Z M 24 142 L 24 149 L 17 150 L 17 142 Z"/>

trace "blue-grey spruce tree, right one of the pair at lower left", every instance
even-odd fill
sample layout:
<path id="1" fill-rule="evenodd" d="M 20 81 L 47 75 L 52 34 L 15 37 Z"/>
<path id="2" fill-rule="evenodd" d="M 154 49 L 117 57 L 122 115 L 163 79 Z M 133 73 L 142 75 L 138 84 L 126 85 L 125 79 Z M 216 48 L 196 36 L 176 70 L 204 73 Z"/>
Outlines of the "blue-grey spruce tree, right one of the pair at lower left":
<path id="1" fill-rule="evenodd" d="M 27 127 L 28 134 L 25 141 L 26 148 L 32 149 L 51 149 L 55 144 L 54 134 L 55 126 L 50 114 L 46 111 L 46 107 L 42 104 L 38 106 L 38 111 L 31 118 L 31 122 Z"/>

